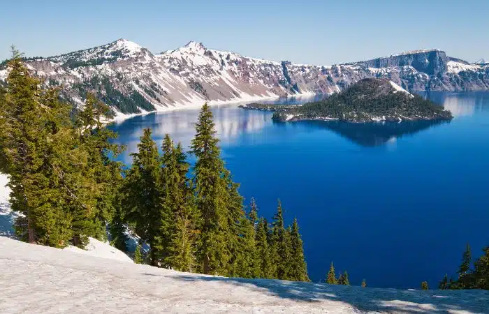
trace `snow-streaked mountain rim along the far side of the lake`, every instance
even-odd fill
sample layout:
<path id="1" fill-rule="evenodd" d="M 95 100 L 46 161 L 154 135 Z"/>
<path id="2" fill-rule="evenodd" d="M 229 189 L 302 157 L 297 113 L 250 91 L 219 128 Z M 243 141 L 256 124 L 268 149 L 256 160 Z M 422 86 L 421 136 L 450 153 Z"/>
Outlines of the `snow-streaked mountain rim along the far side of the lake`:
<path id="1" fill-rule="evenodd" d="M 88 91 L 116 114 L 163 111 L 189 105 L 259 100 L 296 94 L 330 94 L 365 77 L 385 77 L 410 91 L 489 89 L 489 63 L 470 64 L 440 50 L 416 50 L 368 61 L 310 66 L 207 49 L 191 41 L 153 54 L 129 40 L 28 59 L 46 84 L 63 85 L 80 105 Z M 7 70 L 0 70 L 0 80 Z"/>

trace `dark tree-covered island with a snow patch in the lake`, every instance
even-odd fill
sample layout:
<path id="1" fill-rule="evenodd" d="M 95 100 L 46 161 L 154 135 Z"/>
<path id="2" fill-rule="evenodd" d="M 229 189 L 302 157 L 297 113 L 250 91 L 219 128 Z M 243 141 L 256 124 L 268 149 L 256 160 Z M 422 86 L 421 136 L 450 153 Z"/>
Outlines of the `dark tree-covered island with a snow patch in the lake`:
<path id="1" fill-rule="evenodd" d="M 249 110 L 273 111 L 275 121 L 338 120 L 346 122 L 451 120 L 450 111 L 387 79 L 367 78 L 325 100 L 304 105 L 251 103 Z"/>

